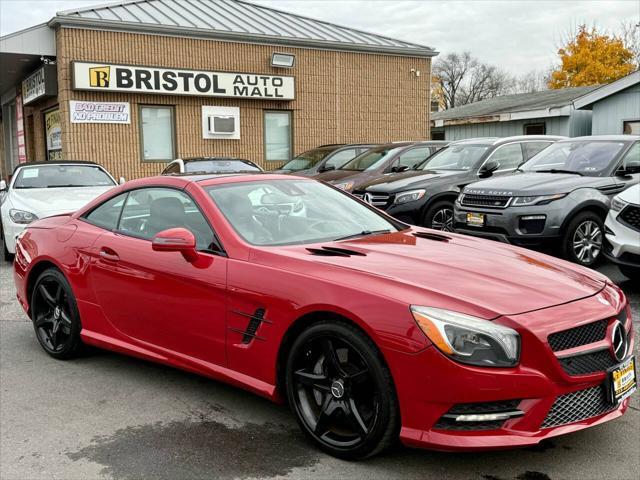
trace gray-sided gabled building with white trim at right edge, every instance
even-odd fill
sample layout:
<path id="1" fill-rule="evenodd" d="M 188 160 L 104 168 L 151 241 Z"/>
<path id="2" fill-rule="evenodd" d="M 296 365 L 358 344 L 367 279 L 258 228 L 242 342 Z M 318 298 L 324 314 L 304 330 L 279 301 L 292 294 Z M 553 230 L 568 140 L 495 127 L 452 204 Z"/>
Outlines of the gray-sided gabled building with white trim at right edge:
<path id="1" fill-rule="evenodd" d="M 575 106 L 592 112 L 593 135 L 640 135 L 640 70 L 578 98 Z"/>

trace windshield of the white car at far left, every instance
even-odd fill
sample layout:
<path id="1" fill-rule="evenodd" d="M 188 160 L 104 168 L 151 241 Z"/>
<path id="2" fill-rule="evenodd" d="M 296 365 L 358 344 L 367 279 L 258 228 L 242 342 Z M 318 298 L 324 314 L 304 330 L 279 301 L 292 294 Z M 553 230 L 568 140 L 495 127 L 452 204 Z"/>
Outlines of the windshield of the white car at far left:
<path id="1" fill-rule="evenodd" d="M 115 185 L 97 165 L 38 165 L 18 170 L 13 188 L 110 187 Z"/>

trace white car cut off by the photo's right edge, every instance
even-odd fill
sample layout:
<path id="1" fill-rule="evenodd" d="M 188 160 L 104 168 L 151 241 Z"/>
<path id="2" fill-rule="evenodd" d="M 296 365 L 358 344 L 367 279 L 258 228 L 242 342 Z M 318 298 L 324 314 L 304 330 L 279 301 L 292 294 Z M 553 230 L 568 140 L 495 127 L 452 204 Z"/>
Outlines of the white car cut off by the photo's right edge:
<path id="1" fill-rule="evenodd" d="M 640 279 L 640 184 L 611 201 L 605 222 L 606 257 L 630 279 Z"/>

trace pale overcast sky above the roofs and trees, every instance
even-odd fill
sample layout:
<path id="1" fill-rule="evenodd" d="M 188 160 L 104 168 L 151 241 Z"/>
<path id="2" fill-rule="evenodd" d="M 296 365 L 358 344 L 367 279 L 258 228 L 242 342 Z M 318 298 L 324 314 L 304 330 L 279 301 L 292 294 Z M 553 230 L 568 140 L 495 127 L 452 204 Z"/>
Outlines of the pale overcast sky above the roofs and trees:
<path id="1" fill-rule="evenodd" d="M 547 69 L 560 37 L 581 23 L 609 31 L 640 22 L 638 0 L 254 0 L 281 10 L 436 48 L 469 50 L 514 74 Z M 109 0 L 0 0 L 0 33 L 46 22 L 57 11 Z"/>

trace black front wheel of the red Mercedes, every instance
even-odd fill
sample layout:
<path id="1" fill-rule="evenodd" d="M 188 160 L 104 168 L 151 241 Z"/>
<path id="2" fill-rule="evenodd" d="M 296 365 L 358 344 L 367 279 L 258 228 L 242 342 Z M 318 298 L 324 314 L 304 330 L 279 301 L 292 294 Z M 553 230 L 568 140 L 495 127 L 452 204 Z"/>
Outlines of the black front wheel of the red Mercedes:
<path id="1" fill-rule="evenodd" d="M 324 451 L 359 459 L 379 453 L 398 434 L 391 375 L 375 344 L 340 322 L 320 322 L 294 342 L 287 397 L 298 423 Z"/>

